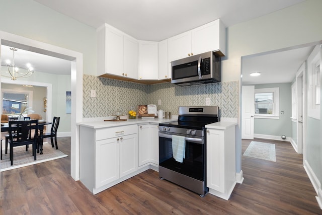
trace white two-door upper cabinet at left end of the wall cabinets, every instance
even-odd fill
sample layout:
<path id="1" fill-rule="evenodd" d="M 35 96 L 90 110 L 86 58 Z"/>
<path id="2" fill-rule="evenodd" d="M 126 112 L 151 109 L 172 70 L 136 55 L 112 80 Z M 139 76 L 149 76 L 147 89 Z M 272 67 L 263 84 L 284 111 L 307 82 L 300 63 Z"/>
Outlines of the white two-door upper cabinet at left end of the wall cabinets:
<path id="1" fill-rule="evenodd" d="M 97 30 L 98 75 L 137 79 L 138 42 L 104 24 Z"/>

